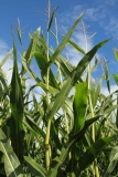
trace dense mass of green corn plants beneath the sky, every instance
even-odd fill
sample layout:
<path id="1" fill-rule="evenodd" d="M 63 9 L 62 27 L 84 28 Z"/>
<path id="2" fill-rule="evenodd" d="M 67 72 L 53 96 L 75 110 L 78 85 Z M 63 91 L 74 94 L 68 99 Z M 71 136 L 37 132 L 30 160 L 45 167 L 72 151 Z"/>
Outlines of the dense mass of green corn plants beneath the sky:
<path id="1" fill-rule="evenodd" d="M 118 91 L 110 92 L 106 61 L 99 82 L 92 77 L 98 64 L 96 52 L 109 40 L 90 51 L 72 41 L 82 13 L 58 44 L 57 35 L 51 31 L 55 11 L 49 14 L 46 41 L 41 28 L 30 34 L 30 44 L 21 55 L 21 71 L 14 39 L 13 49 L 0 63 L 0 177 L 117 176 Z M 17 31 L 22 45 L 20 23 Z M 50 33 L 57 42 L 56 50 L 50 48 Z M 76 66 L 61 54 L 67 44 L 83 54 Z M 118 60 L 117 50 L 114 52 Z M 11 54 L 13 70 L 8 84 L 2 65 Z M 32 60 L 40 73 L 31 70 Z M 30 87 L 28 74 L 34 83 Z M 118 76 L 112 76 L 118 84 Z M 108 96 L 101 93 L 103 80 Z M 39 98 L 35 88 L 41 91 Z"/>

